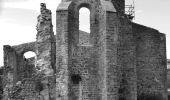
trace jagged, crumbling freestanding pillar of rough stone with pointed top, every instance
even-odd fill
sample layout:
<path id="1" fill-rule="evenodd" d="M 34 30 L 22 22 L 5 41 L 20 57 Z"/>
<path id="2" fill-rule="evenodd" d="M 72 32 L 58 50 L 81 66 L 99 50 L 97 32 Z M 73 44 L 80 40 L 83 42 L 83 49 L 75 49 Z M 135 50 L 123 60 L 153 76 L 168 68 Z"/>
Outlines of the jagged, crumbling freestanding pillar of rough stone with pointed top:
<path id="1" fill-rule="evenodd" d="M 36 48 L 36 68 L 44 75 L 41 82 L 45 87 L 41 94 L 43 94 L 45 100 L 54 100 L 55 93 L 51 91 L 55 89 L 53 87 L 55 84 L 55 38 L 51 11 L 46 9 L 44 3 L 41 4 L 41 14 L 38 16 Z"/>

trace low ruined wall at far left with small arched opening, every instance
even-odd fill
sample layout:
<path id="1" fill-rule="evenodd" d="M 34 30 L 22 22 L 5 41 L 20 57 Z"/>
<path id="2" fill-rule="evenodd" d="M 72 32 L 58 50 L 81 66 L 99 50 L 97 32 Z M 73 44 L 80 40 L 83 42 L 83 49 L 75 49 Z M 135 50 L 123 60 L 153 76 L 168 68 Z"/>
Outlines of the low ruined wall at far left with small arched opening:
<path id="1" fill-rule="evenodd" d="M 35 73 L 34 58 L 25 59 L 24 53 L 27 51 L 36 51 L 35 42 L 24 43 L 15 46 L 4 46 L 4 98 L 8 99 L 26 99 L 33 91 L 27 91 L 23 87 L 31 84 L 27 81 L 28 78 L 32 78 L 32 74 Z M 34 81 L 33 81 L 34 82 Z M 19 85 L 18 85 L 19 83 Z M 35 85 L 35 84 L 32 84 Z M 34 88 L 34 87 L 32 87 Z M 25 91 L 25 92 L 24 92 Z M 29 94 L 29 95 L 28 95 Z"/>

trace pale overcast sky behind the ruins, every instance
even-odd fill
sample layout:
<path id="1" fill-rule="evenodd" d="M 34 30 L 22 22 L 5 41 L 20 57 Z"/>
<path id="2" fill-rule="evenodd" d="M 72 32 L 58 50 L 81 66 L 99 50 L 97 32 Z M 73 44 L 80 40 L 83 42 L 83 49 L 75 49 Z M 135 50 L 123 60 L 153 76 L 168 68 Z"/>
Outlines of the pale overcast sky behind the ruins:
<path id="1" fill-rule="evenodd" d="M 126 3 L 131 1 L 127 0 Z M 0 66 L 3 65 L 3 45 L 35 41 L 40 3 L 46 3 L 47 8 L 52 10 L 55 28 L 55 11 L 60 2 L 61 0 L 0 0 Z M 136 0 L 135 9 L 134 22 L 166 34 L 167 58 L 170 59 L 170 0 Z M 87 15 L 84 17 L 87 18 Z M 87 22 L 83 20 L 85 26 Z M 87 29 L 85 26 L 83 30 Z"/>

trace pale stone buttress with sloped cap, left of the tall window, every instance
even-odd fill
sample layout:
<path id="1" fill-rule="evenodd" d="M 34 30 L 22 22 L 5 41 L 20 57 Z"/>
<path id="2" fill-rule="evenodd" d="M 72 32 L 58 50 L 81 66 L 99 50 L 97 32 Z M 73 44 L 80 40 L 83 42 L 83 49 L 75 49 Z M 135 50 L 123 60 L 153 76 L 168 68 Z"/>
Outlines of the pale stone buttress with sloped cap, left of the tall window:
<path id="1" fill-rule="evenodd" d="M 62 2 L 60 5 L 56 11 L 56 100 L 69 100 L 68 6 L 70 2 Z"/>

